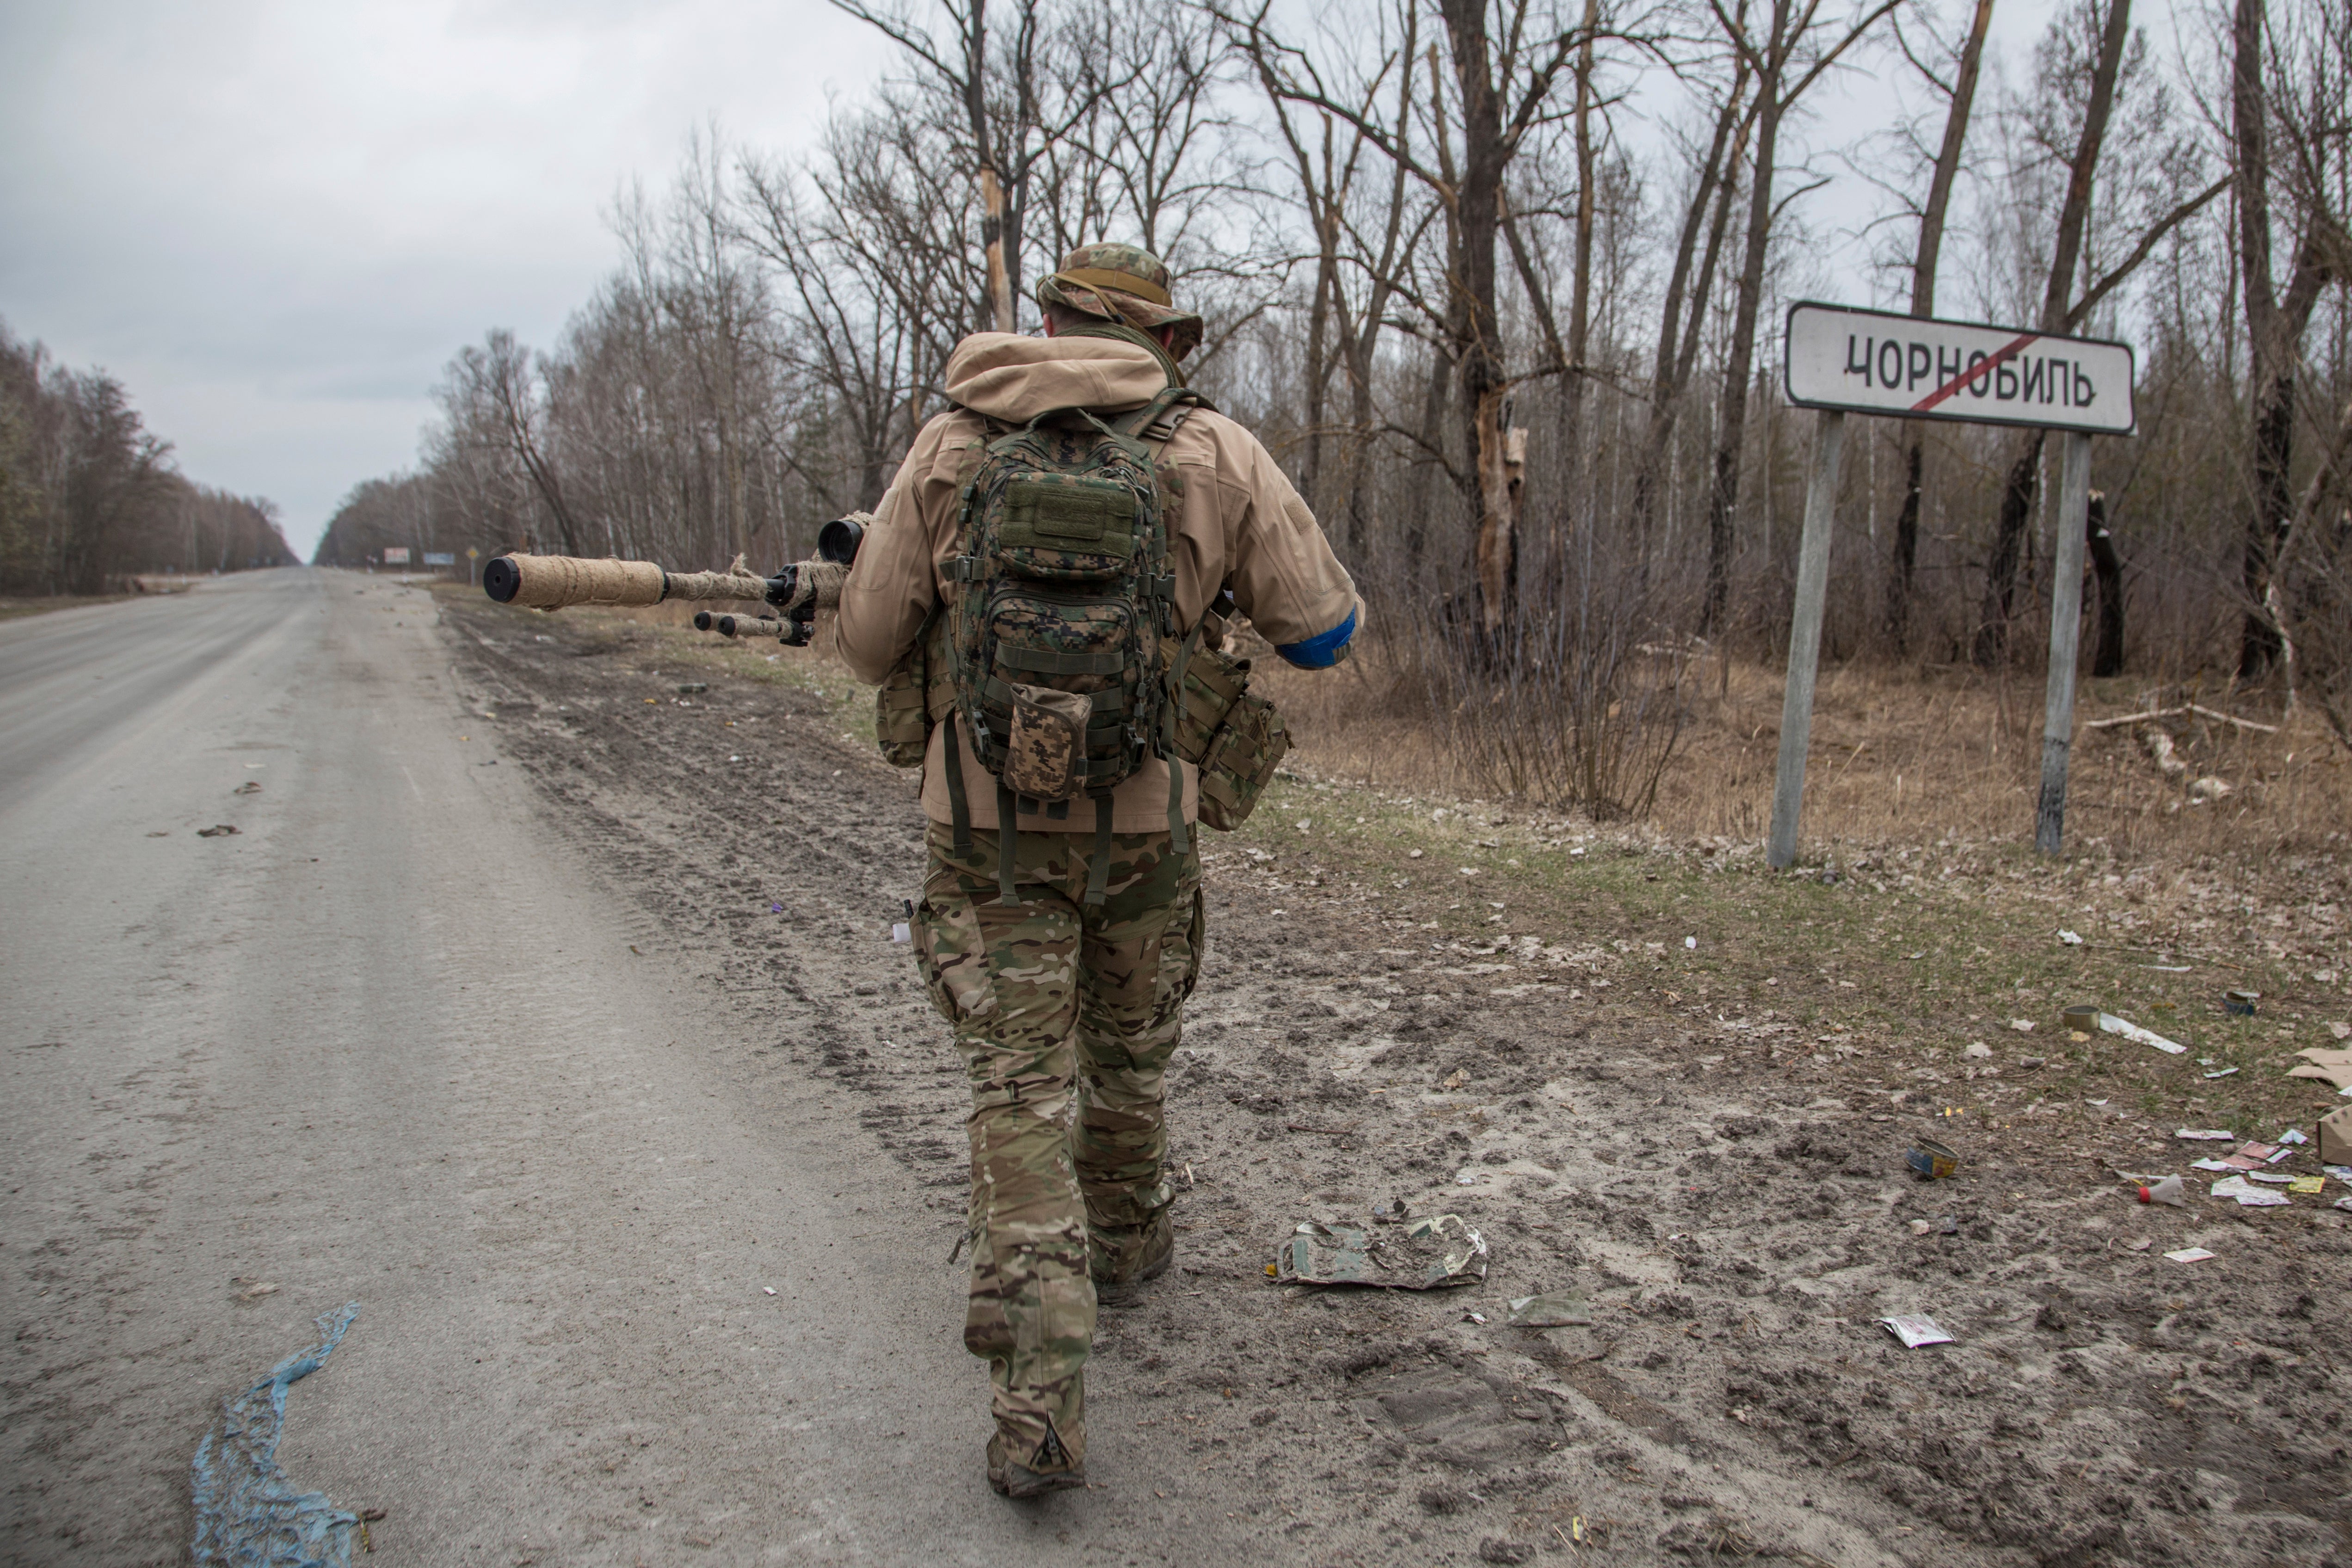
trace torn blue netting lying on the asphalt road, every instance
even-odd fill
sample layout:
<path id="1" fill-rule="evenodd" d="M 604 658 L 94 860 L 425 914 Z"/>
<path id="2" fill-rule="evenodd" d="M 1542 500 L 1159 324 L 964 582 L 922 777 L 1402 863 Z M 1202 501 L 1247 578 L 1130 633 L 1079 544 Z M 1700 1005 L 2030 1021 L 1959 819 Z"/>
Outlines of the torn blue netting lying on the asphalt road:
<path id="1" fill-rule="evenodd" d="M 360 1302 L 318 1316 L 320 1340 L 230 1399 L 195 1446 L 195 1561 L 230 1568 L 348 1568 L 358 1514 L 325 1493 L 294 1493 L 278 1472 L 287 1387 L 308 1378 L 343 1342 Z"/>

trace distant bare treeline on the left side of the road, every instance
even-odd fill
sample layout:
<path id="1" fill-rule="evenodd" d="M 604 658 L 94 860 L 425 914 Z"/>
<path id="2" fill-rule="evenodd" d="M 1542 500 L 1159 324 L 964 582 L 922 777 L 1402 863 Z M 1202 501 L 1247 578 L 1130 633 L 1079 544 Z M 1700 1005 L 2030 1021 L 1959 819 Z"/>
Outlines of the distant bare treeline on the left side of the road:
<path id="1" fill-rule="evenodd" d="M 296 559 L 275 505 L 181 477 L 120 381 L 0 322 L 0 592 L 99 595 Z"/>

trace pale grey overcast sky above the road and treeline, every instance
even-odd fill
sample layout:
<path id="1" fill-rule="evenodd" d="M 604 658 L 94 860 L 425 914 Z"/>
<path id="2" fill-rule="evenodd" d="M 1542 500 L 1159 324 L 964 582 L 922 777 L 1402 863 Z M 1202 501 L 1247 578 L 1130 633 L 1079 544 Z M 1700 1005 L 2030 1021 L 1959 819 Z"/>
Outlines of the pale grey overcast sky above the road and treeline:
<path id="1" fill-rule="evenodd" d="M 2020 68 L 2051 9 L 1997 12 Z M 0 5 L 0 320 L 122 378 L 308 555 L 414 461 L 456 348 L 555 339 L 619 261 L 616 190 L 713 120 L 807 146 L 889 63 L 823 0 Z M 1889 75 L 1849 73 L 1830 127 L 1884 122 Z"/>

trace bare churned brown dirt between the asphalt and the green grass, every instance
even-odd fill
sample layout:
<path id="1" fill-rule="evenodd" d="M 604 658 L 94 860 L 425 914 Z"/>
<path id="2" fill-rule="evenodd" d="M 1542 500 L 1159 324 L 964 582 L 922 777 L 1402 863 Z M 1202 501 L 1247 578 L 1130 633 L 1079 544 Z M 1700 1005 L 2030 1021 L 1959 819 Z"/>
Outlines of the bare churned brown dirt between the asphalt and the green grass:
<path id="1" fill-rule="evenodd" d="M 727 1048 L 837 1086 L 924 1182 L 934 1218 L 877 1244 L 938 1269 L 960 1084 L 884 940 L 913 778 L 828 693 L 663 670 L 612 623 L 452 623 L 555 820 L 710 966 Z M 1933 1100 L 1851 1095 L 1828 1051 L 1717 1074 L 1726 1037 L 1762 1056 L 1795 1027 L 1700 1037 L 1529 952 L 1432 950 L 1336 898 L 1341 872 L 1211 839 L 1171 1074 L 1181 1267 L 1105 1314 L 1101 1483 L 1249 1526 L 1242 1561 L 2352 1561 L 2345 1215 L 2143 1208 L 2002 1159 L 1919 1182 L 1900 1150 Z M 1265 1279 L 1298 1220 L 1395 1197 L 1477 1225 L 1489 1279 Z M 2199 1244 L 2220 1258 L 2161 1255 Z M 1595 1324 L 1510 1328 L 1534 1291 Z M 1903 1349 L 1893 1312 L 1959 1342 Z M 1105 1453 L 1122 1434 L 1162 1441 Z M 1070 1519 L 1105 1554 L 1209 1561 Z"/>

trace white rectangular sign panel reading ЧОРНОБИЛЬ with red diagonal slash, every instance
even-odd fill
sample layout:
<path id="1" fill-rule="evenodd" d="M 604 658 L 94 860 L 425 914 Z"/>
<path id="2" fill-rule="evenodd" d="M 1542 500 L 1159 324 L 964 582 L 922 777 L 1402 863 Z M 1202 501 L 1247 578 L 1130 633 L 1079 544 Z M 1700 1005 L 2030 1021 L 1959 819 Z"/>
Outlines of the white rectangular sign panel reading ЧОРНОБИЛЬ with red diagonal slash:
<path id="1" fill-rule="evenodd" d="M 1806 409 L 2129 435 L 2131 348 L 1799 301 L 1788 400 Z"/>

